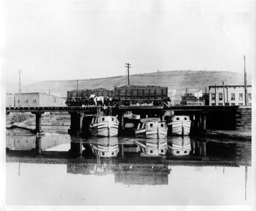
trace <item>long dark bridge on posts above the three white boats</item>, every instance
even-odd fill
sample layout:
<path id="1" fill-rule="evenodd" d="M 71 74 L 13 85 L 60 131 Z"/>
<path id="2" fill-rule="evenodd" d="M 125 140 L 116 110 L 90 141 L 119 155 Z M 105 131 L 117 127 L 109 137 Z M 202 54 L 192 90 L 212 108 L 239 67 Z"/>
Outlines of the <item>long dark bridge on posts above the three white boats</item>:
<path id="1" fill-rule="evenodd" d="M 166 120 L 171 115 L 187 115 L 191 120 L 191 130 L 227 129 L 251 127 L 251 107 L 209 106 L 209 105 L 170 105 L 165 107 L 12 107 L 6 108 L 6 114 L 11 112 L 31 112 L 36 116 L 37 133 L 41 133 L 41 116 L 45 112 L 69 112 L 71 115 L 71 132 L 82 132 L 90 124 L 92 116 L 101 114 L 117 115 L 120 127 L 124 124 L 124 114 L 132 112 L 142 118 L 159 117 Z"/>

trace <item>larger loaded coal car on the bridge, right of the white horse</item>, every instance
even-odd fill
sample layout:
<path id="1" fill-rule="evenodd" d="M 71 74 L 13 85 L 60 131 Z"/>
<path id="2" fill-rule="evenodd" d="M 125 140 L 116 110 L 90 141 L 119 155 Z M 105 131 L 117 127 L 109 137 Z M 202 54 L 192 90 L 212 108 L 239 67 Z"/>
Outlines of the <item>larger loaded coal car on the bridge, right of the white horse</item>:
<path id="1" fill-rule="evenodd" d="M 113 101 L 118 101 L 119 106 L 162 106 L 170 102 L 168 87 L 153 85 L 130 85 L 115 87 Z"/>

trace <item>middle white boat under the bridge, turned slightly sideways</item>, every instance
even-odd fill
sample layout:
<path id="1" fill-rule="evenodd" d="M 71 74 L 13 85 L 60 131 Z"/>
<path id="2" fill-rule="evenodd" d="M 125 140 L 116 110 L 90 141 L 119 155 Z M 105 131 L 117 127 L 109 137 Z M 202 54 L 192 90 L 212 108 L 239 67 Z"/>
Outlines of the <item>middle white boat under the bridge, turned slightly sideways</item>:
<path id="1" fill-rule="evenodd" d="M 140 138 L 167 138 L 167 126 L 165 121 L 158 121 L 155 118 L 141 119 L 135 136 Z"/>

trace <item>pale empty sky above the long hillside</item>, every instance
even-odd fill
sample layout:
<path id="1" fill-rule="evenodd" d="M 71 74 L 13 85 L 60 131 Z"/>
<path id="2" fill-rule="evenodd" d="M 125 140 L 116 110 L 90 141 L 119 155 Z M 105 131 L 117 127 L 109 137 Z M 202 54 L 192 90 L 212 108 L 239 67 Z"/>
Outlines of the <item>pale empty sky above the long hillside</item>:
<path id="1" fill-rule="evenodd" d="M 169 70 L 251 71 L 254 1 L 6 1 L 7 85 Z"/>

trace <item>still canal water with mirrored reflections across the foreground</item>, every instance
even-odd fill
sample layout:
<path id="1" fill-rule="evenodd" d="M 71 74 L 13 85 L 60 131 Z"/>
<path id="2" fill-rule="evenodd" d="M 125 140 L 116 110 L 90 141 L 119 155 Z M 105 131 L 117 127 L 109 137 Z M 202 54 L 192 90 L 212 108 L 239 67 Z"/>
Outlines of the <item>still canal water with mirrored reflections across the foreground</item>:
<path id="1" fill-rule="evenodd" d="M 7 205 L 246 205 L 251 144 L 8 135 Z"/>

